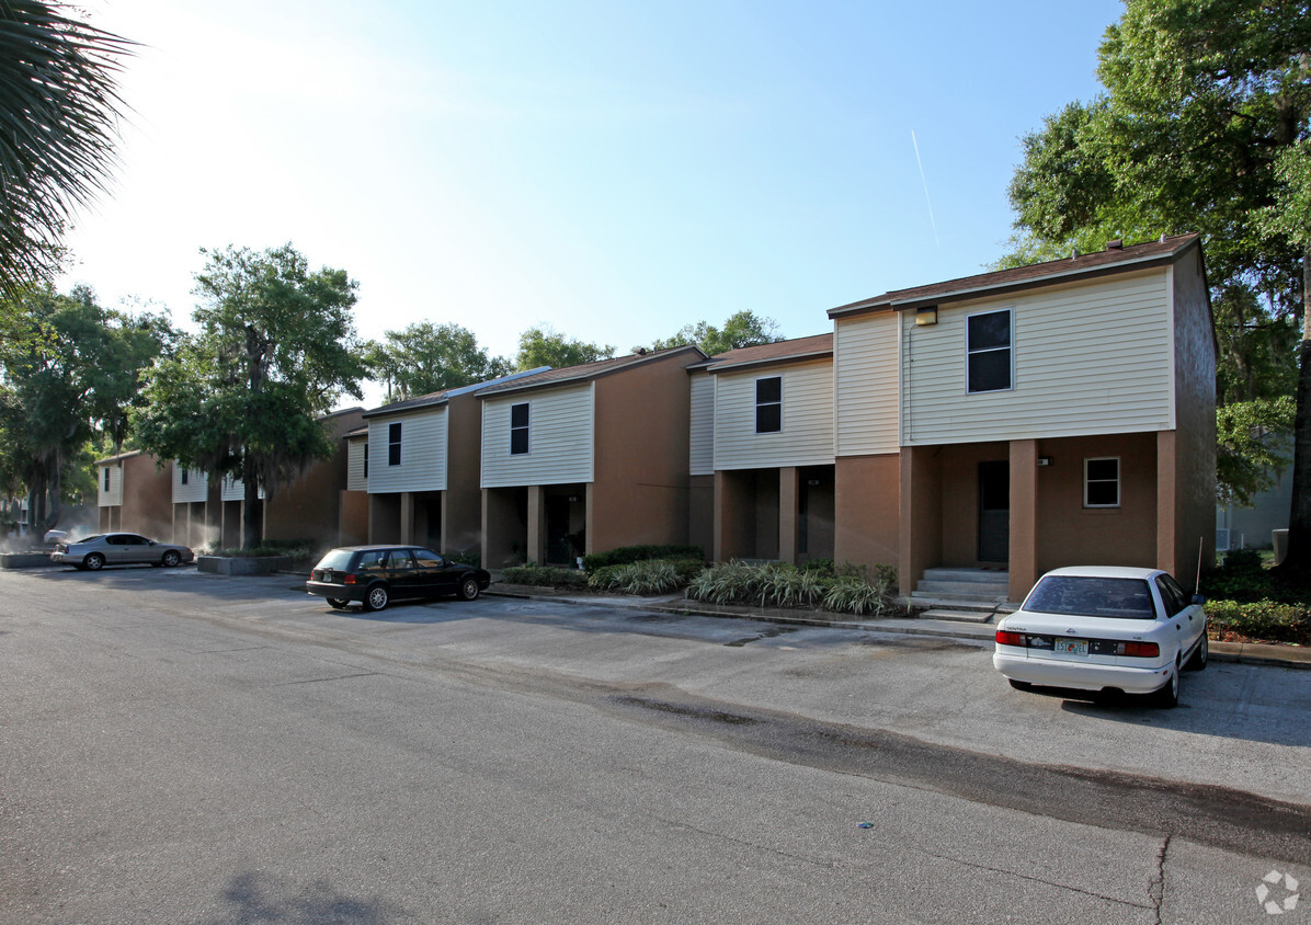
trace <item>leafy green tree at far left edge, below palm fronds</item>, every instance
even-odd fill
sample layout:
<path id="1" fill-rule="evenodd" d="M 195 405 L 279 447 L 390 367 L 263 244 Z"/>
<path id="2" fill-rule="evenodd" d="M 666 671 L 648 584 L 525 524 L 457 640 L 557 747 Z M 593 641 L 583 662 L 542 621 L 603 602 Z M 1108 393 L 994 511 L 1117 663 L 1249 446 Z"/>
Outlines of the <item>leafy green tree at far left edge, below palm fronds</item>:
<path id="1" fill-rule="evenodd" d="M 87 287 L 31 288 L 0 312 L 0 480 L 54 527 L 89 447 L 117 452 L 143 372 L 176 331 L 161 314 L 106 309 Z"/>

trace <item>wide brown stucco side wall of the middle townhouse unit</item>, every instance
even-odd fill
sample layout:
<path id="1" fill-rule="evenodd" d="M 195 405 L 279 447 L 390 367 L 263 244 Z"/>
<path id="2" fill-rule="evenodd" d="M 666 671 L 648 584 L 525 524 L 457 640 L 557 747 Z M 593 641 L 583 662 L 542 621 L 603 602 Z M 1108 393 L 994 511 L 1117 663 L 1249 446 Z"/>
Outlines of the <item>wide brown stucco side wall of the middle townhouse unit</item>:
<path id="1" fill-rule="evenodd" d="M 589 552 L 688 537 L 691 387 L 695 351 L 595 380 Z"/>

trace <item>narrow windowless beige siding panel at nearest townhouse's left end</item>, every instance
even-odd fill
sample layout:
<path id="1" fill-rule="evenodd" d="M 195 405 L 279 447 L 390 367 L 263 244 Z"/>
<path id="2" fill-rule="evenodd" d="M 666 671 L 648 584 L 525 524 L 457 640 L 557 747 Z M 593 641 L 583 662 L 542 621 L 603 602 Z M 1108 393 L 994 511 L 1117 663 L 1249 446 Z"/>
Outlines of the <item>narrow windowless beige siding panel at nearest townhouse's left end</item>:
<path id="1" fill-rule="evenodd" d="M 885 312 L 834 326 L 838 456 L 895 453 L 899 447 L 898 318 Z"/>

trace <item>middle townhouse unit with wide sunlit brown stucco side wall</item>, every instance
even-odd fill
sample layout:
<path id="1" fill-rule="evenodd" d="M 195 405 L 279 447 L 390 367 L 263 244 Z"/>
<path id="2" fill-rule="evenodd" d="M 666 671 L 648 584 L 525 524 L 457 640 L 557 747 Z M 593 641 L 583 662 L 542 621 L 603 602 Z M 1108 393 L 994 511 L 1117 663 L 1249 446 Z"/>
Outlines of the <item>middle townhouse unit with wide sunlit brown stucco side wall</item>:
<path id="1" fill-rule="evenodd" d="M 704 359 L 682 346 L 479 389 L 484 567 L 687 542 L 687 368 Z"/>

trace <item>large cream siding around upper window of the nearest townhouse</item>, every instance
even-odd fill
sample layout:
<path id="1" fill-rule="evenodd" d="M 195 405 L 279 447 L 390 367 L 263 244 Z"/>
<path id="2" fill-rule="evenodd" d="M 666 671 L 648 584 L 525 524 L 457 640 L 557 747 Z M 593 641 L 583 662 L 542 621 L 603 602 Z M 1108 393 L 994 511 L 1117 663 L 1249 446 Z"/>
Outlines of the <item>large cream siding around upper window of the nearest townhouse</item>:
<path id="1" fill-rule="evenodd" d="M 1013 309 L 1013 388 L 968 394 L 965 318 Z M 902 442 L 1023 440 L 1173 427 L 1164 270 L 903 312 Z"/>

